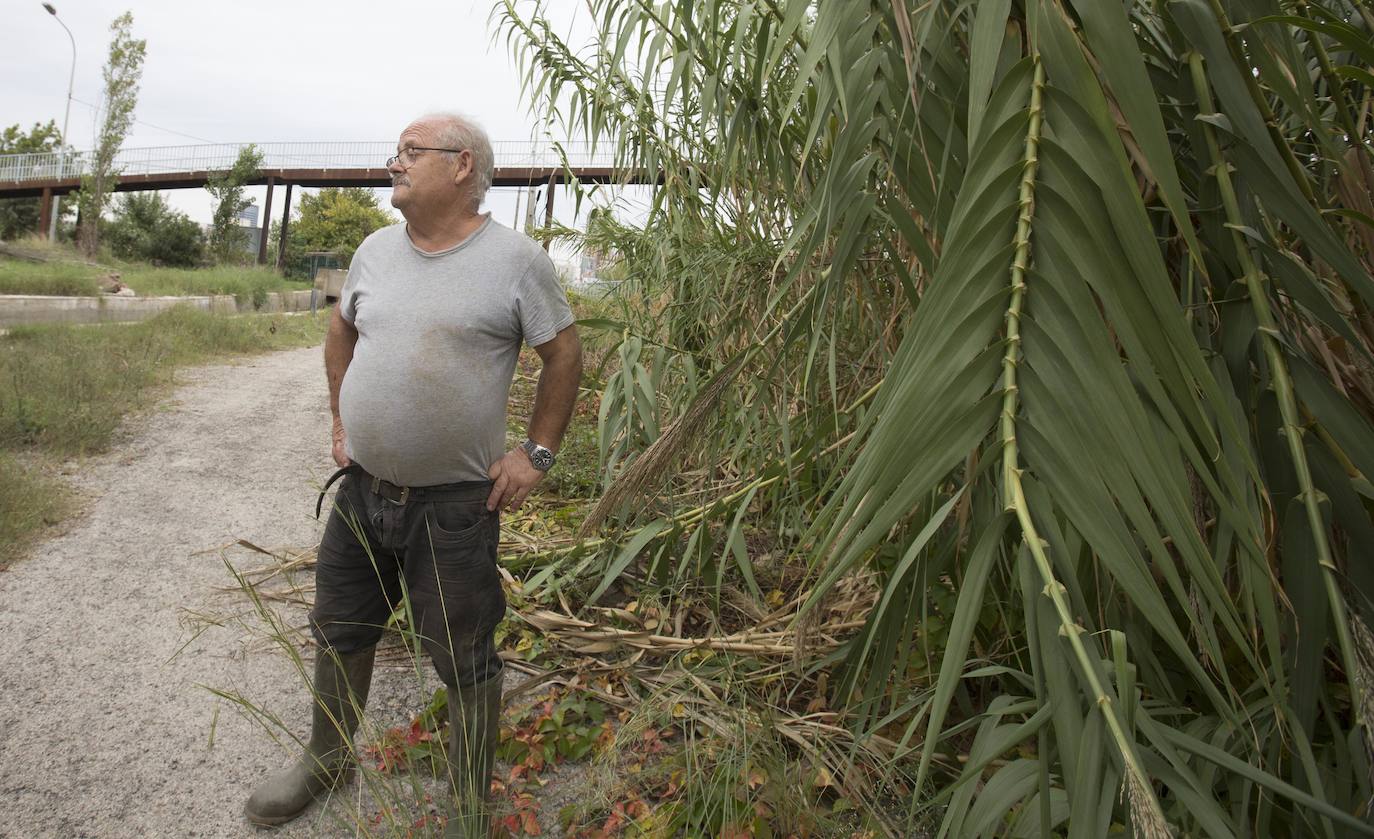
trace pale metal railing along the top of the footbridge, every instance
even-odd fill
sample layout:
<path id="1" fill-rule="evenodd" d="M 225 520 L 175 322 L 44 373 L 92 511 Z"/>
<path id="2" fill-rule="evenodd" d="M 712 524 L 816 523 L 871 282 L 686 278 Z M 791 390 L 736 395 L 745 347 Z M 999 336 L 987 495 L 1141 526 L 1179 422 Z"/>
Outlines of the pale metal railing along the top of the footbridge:
<path id="1" fill-rule="evenodd" d="M 247 143 L 201 146 L 159 146 L 125 148 L 114 159 L 121 174 L 172 174 L 180 172 L 224 172 L 234 166 Z M 396 154 L 393 141 L 256 143 L 262 169 L 382 169 Z M 561 166 L 562 158 L 547 143 L 500 140 L 492 143 L 497 168 Z M 611 166 L 609 147 L 595 152 L 589 143 L 565 143 L 572 166 Z M 0 155 L 0 181 L 65 180 L 91 170 L 91 152 L 67 151 Z"/>

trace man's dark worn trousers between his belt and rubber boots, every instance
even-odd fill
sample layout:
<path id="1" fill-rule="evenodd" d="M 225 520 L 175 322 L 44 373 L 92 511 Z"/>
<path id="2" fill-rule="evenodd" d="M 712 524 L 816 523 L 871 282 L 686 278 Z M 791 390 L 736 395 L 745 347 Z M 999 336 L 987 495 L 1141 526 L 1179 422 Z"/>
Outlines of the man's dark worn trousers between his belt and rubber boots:
<path id="1" fill-rule="evenodd" d="M 500 674 L 495 633 L 506 593 L 496 570 L 499 514 L 486 509 L 492 483 L 449 487 L 437 500 L 396 504 L 371 490 L 365 472 L 344 478 L 315 570 L 311 629 L 322 647 L 365 650 L 404 608 L 444 684 Z"/>

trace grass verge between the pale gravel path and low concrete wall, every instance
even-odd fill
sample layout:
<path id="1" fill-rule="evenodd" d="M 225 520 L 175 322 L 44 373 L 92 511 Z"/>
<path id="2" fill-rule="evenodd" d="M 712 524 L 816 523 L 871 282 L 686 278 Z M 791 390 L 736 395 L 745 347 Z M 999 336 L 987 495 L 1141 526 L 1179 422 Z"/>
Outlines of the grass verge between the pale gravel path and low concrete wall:
<path id="1" fill-rule="evenodd" d="M 51 467 L 109 449 L 124 417 L 165 393 L 176 368 L 319 343 L 324 324 L 324 313 L 174 308 L 131 325 L 18 327 L 0 336 L 0 567 L 70 511 Z"/>

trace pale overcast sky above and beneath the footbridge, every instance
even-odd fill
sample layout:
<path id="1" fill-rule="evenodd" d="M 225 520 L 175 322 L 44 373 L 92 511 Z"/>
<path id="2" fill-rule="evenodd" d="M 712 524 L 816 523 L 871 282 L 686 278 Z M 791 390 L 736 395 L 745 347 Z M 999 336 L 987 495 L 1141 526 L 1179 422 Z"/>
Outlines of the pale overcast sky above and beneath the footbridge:
<path id="1" fill-rule="evenodd" d="M 195 143 L 387 140 L 415 115 L 458 110 L 492 140 L 537 139 L 521 99 L 515 62 L 495 38 L 492 0 L 56 0 L 76 38 L 70 143 L 91 148 L 110 22 L 133 12 L 147 41 L 143 84 L 125 148 Z M 589 32 L 578 0 L 551 0 L 574 43 Z M 525 5 L 528 8 L 528 5 Z M 40 0 L 0 0 L 0 128 L 56 119 L 66 107 L 71 45 Z M 382 161 L 378 161 L 381 165 Z M 265 187 L 250 194 L 261 205 Z M 383 206 L 389 191 L 378 191 Z M 203 189 L 166 192 L 209 221 Z M 280 217 L 282 191 L 272 216 Z M 515 191 L 492 189 L 488 209 L 513 224 Z M 566 210 L 559 211 L 559 210 Z M 555 214 L 572 221 L 555 195 Z"/>

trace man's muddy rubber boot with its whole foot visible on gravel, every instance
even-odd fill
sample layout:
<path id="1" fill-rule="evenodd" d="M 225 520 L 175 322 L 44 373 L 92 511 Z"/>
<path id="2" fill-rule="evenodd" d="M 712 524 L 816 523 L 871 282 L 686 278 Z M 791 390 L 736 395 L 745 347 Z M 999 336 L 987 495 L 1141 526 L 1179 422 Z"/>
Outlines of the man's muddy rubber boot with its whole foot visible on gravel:
<path id="1" fill-rule="evenodd" d="M 249 821 L 271 827 L 291 821 L 315 796 L 338 787 L 353 769 L 349 742 L 357 731 L 372 684 L 376 647 L 359 652 L 315 654 L 315 709 L 311 740 L 295 763 L 262 781 L 243 806 Z M 352 698 L 350 698 L 352 693 Z"/>

